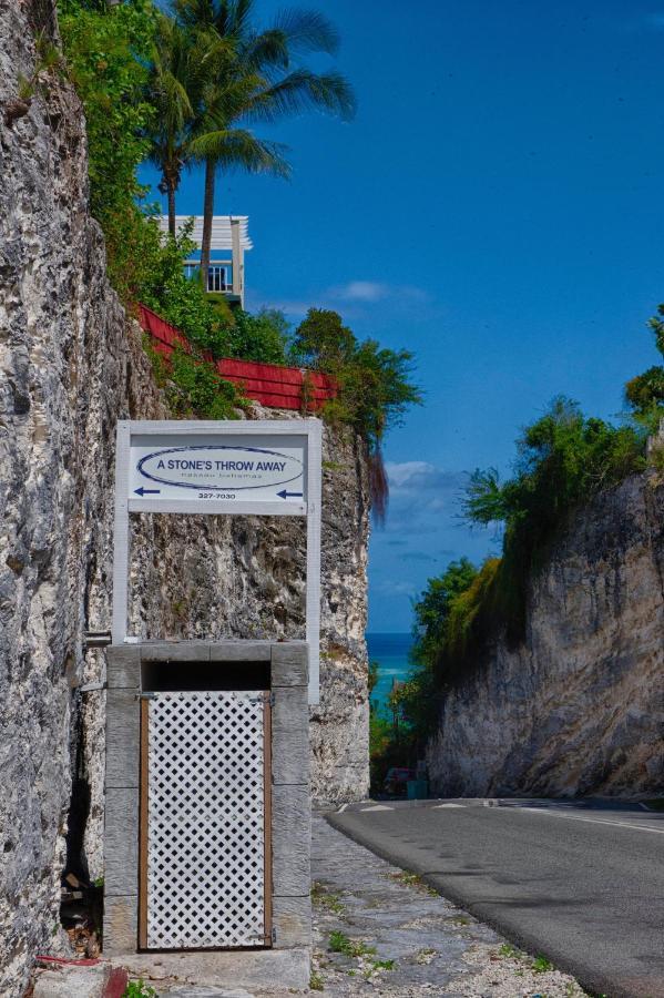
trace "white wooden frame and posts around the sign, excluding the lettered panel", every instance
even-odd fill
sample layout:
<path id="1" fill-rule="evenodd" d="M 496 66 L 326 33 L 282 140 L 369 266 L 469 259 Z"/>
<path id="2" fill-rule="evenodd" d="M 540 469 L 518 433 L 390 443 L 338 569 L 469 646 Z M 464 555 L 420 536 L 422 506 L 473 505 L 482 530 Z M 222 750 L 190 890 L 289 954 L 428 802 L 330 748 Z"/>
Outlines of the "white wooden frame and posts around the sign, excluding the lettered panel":
<path id="1" fill-rule="evenodd" d="M 153 499 L 131 498 L 131 445 L 135 437 L 176 437 L 186 445 L 191 437 L 279 437 L 304 438 L 306 488 L 302 502 L 258 499 Z M 184 513 L 187 516 L 235 515 L 304 517 L 307 522 L 305 617 L 309 645 L 309 703 L 319 702 L 320 640 L 320 496 L 323 425 L 316 417 L 305 419 L 120 419 L 115 450 L 115 518 L 113 527 L 113 644 L 135 644 L 129 634 L 129 582 L 131 567 L 130 516 L 137 512 Z M 195 446 L 195 445 L 194 445 Z M 202 486 L 202 490 L 204 490 Z"/>

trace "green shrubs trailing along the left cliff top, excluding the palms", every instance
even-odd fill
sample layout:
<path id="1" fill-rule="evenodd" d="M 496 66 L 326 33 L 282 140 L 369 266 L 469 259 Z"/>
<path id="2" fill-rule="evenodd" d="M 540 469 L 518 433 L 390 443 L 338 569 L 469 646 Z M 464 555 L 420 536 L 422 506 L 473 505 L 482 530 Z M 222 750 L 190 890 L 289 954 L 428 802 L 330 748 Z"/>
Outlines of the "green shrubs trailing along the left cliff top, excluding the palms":
<path id="1" fill-rule="evenodd" d="M 280 312 L 231 313 L 223 295 L 207 294 L 197 277 L 187 279 L 183 264 L 194 249 L 191 227 L 176 238 L 164 237 L 157 210 L 143 204 L 146 191 L 136 179 L 156 115 L 147 82 L 159 7 L 152 0 L 58 0 L 58 7 L 65 71 L 85 112 L 91 211 L 103 228 L 108 273 L 121 301 L 130 308 L 139 302 L 153 308 L 214 359 L 293 363 L 331 375 L 338 397 L 323 415 L 353 426 L 367 441 L 380 518 L 387 496 L 380 442 L 406 409 L 421 401 L 410 381 L 412 355 L 380 348 L 374 339 L 360 343 L 336 313 L 321 309 L 311 309 L 292 336 Z M 157 374 L 165 377 L 163 370 Z M 197 370 L 191 359 L 178 357 L 170 377 L 181 389 L 172 393 L 176 411 L 188 407 L 226 416 L 237 405 L 238 393 L 210 365 Z M 215 391 L 219 397 L 213 400 Z M 305 411 L 309 394 L 310 381 L 305 381 Z"/>

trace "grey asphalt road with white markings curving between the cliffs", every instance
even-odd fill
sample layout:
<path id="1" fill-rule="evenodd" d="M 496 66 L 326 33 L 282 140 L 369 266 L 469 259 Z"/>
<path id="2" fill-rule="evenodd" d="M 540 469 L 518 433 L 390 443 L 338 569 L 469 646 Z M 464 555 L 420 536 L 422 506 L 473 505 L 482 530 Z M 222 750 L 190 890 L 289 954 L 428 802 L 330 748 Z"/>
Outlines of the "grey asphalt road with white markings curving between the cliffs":
<path id="1" fill-rule="evenodd" d="M 586 990 L 664 998 L 664 814 L 458 800 L 368 802 L 328 818 Z"/>

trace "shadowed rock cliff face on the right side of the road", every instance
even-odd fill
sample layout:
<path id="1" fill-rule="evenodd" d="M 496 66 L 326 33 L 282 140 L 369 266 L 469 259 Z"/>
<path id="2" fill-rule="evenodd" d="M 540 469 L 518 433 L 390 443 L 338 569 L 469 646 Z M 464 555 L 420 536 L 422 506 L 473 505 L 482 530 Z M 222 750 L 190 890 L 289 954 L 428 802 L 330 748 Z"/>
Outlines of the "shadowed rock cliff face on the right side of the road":
<path id="1" fill-rule="evenodd" d="M 533 580 L 527 640 L 452 690 L 428 751 L 441 795 L 664 786 L 664 486 L 639 476 L 574 519 Z"/>

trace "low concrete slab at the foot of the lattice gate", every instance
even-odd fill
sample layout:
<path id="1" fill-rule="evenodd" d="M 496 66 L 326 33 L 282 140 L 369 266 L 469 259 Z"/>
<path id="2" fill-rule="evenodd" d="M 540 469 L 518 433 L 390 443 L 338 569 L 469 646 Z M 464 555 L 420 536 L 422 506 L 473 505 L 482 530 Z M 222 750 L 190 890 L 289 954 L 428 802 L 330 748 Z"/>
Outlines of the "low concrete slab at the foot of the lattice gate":
<path id="1" fill-rule="evenodd" d="M 252 953 L 161 953 L 126 954 L 112 964 L 125 967 L 130 977 L 142 977 L 160 995 L 183 985 L 252 991 L 304 991 L 309 987 L 309 949 L 256 949 Z"/>

